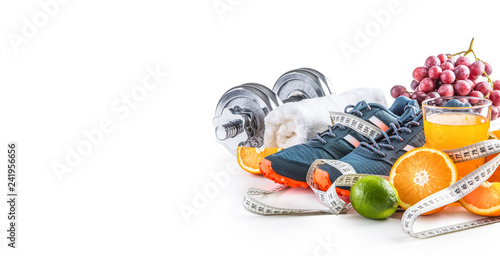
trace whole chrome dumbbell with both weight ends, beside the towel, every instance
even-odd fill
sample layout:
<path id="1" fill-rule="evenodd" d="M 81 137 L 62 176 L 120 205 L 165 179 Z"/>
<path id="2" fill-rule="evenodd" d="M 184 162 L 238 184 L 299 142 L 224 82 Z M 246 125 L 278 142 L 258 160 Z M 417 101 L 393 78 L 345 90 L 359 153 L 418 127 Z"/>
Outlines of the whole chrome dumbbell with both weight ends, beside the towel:
<path id="1" fill-rule="evenodd" d="M 261 147 L 264 144 L 264 118 L 282 103 L 331 94 L 330 82 L 320 72 L 300 68 L 283 74 L 273 90 L 247 83 L 225 92 L 215 109 L 215 137 L 231 153 L 238 146 Z"/>

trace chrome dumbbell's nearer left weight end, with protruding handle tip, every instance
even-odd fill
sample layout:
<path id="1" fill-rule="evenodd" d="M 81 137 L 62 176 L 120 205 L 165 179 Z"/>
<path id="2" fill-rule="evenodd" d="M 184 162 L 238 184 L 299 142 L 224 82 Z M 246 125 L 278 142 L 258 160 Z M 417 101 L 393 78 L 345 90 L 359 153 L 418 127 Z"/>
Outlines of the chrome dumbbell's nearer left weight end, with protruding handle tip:
<path id="1" fill-rule="evenodd" d="M 233 154 L 236 154 L 239 145 L 261 147 L 264 143 L 264 118 L 280 103 L 276 94 L 261 84 L 247 83 L 229 89 L 215 109 L 213 124 L 217 141 Z M 243 131 L 234 137 L 224 138 L 221 126 L 234 120 L 245 123 L 251 133 Z"/>

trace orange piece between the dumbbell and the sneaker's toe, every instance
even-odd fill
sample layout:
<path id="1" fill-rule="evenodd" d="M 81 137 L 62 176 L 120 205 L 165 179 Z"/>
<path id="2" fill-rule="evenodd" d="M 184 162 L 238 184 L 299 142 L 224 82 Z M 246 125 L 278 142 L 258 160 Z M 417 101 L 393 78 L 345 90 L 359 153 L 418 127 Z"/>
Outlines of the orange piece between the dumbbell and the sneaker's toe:
<path id="1" fill-rule="evenodd" d="M 252 174 L 262 174 L 259 170 L 259 163 L 268 155 L 272 155 L 283 148 L 252 148 L 238 147 L 236 156 L 240 167 Z"/>

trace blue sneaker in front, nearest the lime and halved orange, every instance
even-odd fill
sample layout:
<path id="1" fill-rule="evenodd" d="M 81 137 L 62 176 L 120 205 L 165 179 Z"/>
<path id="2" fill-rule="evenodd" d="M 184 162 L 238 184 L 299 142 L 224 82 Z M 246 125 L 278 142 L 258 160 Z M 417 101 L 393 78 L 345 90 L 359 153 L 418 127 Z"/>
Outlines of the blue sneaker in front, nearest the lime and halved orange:
<path id="1" fill-rule="evenodd" d="M 422 111 L 417 107 L 406 107 L 405 113 L 391 129 L 383 132 L 370 142 L 361 142 L 360 147 L 341 158 L 340 161 L 352 166 L 356 173 L 386 175 L 404 153 L 425 144 Z M 329 164 L 318 166 L 313 173 L 313 181 L 319 189 L 326 191 L 341 176 L 339 170 Z"/>

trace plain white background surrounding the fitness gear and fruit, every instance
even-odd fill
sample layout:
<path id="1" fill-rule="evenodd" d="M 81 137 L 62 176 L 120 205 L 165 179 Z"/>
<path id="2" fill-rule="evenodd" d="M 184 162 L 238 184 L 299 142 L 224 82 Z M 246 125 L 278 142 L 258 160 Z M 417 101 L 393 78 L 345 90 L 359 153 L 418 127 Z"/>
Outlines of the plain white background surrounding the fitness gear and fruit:
<path id="1" fill-rule="evenodd" d="M 271 87 L 299 67 L 324 73 L 337 93 L 380 88 L 390 103 L 389 89 L 409 87 L 427 56 L 466 50 L 472 37 L 478 57 L 496 70 L 500 24 L 492 3 L 69 0 L 49 15 L 38 1 L 2 1 L 0 191 L 7 189 L 6 144 L 17 141 L 19 222 L 13 250 L 6 246 L 7 204 L 0 200 L 0 255 L 486 252 L 498 241 L 498 225 L 420 240 L 402 232 L 400 213 L 373 221 L 355 212 L 246 212 L 245 191 L 273 183 L 235 166 L 215 141 L 212 118 L 229 88 Z M 381 13 L 389 15 L 379 21 Z M 38 26 L 23 35 L 34 18 Z M 366 32 L 368 40 L 356 43 Z M 347 44 L 357 48 L 348 57 Z M 129 115 L 113 109 L 125 111 L 122 95 L 141 89 L 148 67 L 168 76 L 133 102 Z M 88 145 L 84 134 L 103 121 L 111 128 L 59 180 L 53 165 L 67 164 L 68 152 Z M 210 173 L 229 180 L 213 189 Z M 196 208 L 198 193 L 207 196 L 210 186 L 208 202 Z M 322 207 L 307 189 L 282 198 L 290 207 Z M 183 207 L 196 212 L 183 215 Z M 424 224 L 469 218 L 451 209 Z"/>

